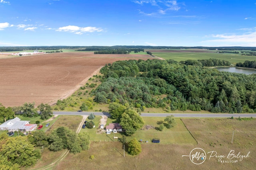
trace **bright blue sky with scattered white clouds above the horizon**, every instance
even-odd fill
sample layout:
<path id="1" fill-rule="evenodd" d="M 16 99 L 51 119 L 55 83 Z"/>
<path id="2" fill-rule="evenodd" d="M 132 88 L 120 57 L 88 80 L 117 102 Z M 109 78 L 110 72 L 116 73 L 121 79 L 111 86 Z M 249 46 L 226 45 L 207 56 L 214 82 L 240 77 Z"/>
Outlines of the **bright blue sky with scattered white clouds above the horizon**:
<path id="1" fill-rule="evenodd" d="M 0 46 L 256 47 L 256 0 L 0 0 Z"/>

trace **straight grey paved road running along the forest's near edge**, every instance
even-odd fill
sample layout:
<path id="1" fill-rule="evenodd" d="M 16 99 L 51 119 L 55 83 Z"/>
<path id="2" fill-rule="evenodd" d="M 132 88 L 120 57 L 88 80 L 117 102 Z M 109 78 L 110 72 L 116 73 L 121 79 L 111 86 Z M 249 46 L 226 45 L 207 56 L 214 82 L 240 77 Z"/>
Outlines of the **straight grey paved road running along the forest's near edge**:
<path id="1" fill-rule="evenodd" d="M 110 116 L 108 112 L 78 112 L 78 111 L 54 111 L 54 115 L 106 115 Z M 168 115 L 174 115 L 174 117 L 256 117 L 255 113 L 141 113 L 143 117 L 166 117 Z"/>

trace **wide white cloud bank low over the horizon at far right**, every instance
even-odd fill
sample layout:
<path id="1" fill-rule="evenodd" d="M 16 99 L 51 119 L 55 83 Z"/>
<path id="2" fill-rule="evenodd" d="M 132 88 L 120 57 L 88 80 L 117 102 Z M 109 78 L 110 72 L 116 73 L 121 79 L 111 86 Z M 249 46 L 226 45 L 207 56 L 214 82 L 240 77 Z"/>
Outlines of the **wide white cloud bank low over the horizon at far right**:
<path id="1" fill-rule="evenodd" d="M 208 37 L 213 39 L 203 41 L 203 43 L 216 43 L 219 44 L 218 46 L 221 46 L 222 44 L 225 44 L 226 46 L 256 46 L 256 30 L 242 35 L 217 34 L 210 35 Z"/>

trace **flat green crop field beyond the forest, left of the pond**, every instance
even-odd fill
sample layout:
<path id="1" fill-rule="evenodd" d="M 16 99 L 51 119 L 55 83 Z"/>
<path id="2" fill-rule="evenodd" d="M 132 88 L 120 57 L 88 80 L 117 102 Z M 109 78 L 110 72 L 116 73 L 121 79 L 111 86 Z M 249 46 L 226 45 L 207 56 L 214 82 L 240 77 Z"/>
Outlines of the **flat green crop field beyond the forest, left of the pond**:
<path id="1" fill-rule="evenodd" d="M 255 56 L 244 56 L 241 54 L 234 53 L 216 53 L 216 50 L 206 49 L 147 49 L 153 53 L 153 55 L 162 59 L 172 59 L 175 61 L 186 61 L 186 60 L 202 60 L 202 59 L 220 59 L 229 61 L 232 64 L 244 63 L 244 61 L 255 61 Z M 220 50 L 221 51 L 221 50 Z"/>

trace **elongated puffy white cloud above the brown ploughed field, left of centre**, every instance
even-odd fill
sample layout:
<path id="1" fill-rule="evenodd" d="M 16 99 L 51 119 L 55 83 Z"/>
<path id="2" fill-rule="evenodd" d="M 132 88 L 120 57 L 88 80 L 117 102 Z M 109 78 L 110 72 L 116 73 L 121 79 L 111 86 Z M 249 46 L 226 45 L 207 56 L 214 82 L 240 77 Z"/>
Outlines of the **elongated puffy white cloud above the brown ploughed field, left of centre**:
<path id="1" fill-rule="evenodd" d="M 78 27 L 74 25 L 68 25 L 66 27 L 59 27 L 59 29 L 56 29 L 56 31 L 74 32 L 81 35 L 84 32 L 100 32 L 102 29 L 97 27 Z"/>

